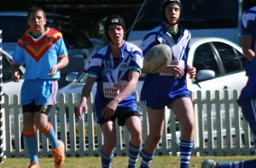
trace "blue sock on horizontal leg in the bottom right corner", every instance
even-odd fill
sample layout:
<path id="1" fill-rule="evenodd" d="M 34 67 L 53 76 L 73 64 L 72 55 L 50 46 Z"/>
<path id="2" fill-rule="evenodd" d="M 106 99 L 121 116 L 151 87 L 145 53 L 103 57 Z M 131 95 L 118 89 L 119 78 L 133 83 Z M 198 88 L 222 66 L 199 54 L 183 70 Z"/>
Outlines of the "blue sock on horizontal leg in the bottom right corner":
<path id="1" fill-rule="evenodd" d="M 256 165 L 256 160 L 243 160 L 233 163 L 220 163 L 218 168 L 247 168 L 254 167 Z"/>

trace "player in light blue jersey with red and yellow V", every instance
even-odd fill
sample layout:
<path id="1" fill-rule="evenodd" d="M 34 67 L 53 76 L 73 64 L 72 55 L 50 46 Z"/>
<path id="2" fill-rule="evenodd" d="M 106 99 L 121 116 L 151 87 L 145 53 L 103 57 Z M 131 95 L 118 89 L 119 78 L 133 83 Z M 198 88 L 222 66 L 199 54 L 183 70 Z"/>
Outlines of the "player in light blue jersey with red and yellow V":
<path id="1" fill-rule="evenodd" d="M 48 122 L 50 107 L 55 104 L 60 70 L 68 64 L 67 48 L 60 31 L 44 27 L 46 15 L 43 8 L 32 7 L 27 12 L 30 26 L 18 40 L 12 61 L 12 79 L 20 81 L 20 64 L 26 72 L 21 87 L 23 110 L 23 136 L 30 156 L 29 168 L 39 167 L 37 128 L 49 138 L 55 156 L 55 168 L 65 160 L 64 143 L 58 140 L 53 126 Z"/>

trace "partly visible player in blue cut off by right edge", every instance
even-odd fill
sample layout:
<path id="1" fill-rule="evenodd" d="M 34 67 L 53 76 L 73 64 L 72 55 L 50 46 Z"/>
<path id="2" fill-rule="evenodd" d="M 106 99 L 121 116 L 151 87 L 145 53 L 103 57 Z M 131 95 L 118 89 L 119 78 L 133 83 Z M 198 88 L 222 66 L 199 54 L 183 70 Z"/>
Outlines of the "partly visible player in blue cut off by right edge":
<path id="1" fill-rule="evenodd" d="M 253 131 L 254 152 L 256 152 L 256 7 L 247 9 L 241 16 L 241 47 L 246 56 L 247 85 L 241 90 L 237 102 L 244 118 Z M 252 168 L 256 160 L 242 160 L 233 163 L 218 163 L 204 160 L 203 168 Z"/>

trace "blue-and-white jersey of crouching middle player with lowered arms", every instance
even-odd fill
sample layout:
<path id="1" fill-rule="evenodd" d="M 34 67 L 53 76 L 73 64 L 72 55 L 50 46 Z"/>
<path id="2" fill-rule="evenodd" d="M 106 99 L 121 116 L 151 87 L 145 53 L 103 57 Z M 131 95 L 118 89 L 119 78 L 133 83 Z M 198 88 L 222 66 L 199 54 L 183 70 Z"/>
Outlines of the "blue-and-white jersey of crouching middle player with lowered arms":
<path id="1" fill-rule="evenodd" d="M 130 42 L 125 42 L 121 48 L 121 60 L 117 66 L 114 65 L 113 55 L 107 45 L 91 57 L 85 70 L 88 71 L 90 77 L 96 78 L 96 101 L 108 103 L 128 83 L 129 71 L 141 72 L 142 68 L 142 50 Z M 127 105 L 134 100 L 136 100 L 135 95 L 132 93 L 120 102 L 119 106 Z"/>

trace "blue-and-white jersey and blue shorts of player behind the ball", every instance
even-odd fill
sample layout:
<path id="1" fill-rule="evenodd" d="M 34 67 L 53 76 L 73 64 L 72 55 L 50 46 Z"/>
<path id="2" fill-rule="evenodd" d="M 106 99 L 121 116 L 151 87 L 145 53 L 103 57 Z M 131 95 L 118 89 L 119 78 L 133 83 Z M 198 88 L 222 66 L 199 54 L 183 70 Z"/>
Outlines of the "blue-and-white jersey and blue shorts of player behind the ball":
<path id="1" fill-rule="evenodd" d="M 157 44 L 164 43 L 172 48 L 172 63 L 185 70 L 182 77 L 177 78 L 170 74 L 147 74 L 143 83 L 141 100 L 151 109 L 161 109 L 171 104 L 175 98 L 190 97 L 187 88 L 187 60 L 190 32 L 182 26 L 178 27 L 181 36 L 177 41 L 169 34 L 164 24 L 149 31 L 141 44 L 143 54 Z"/>

